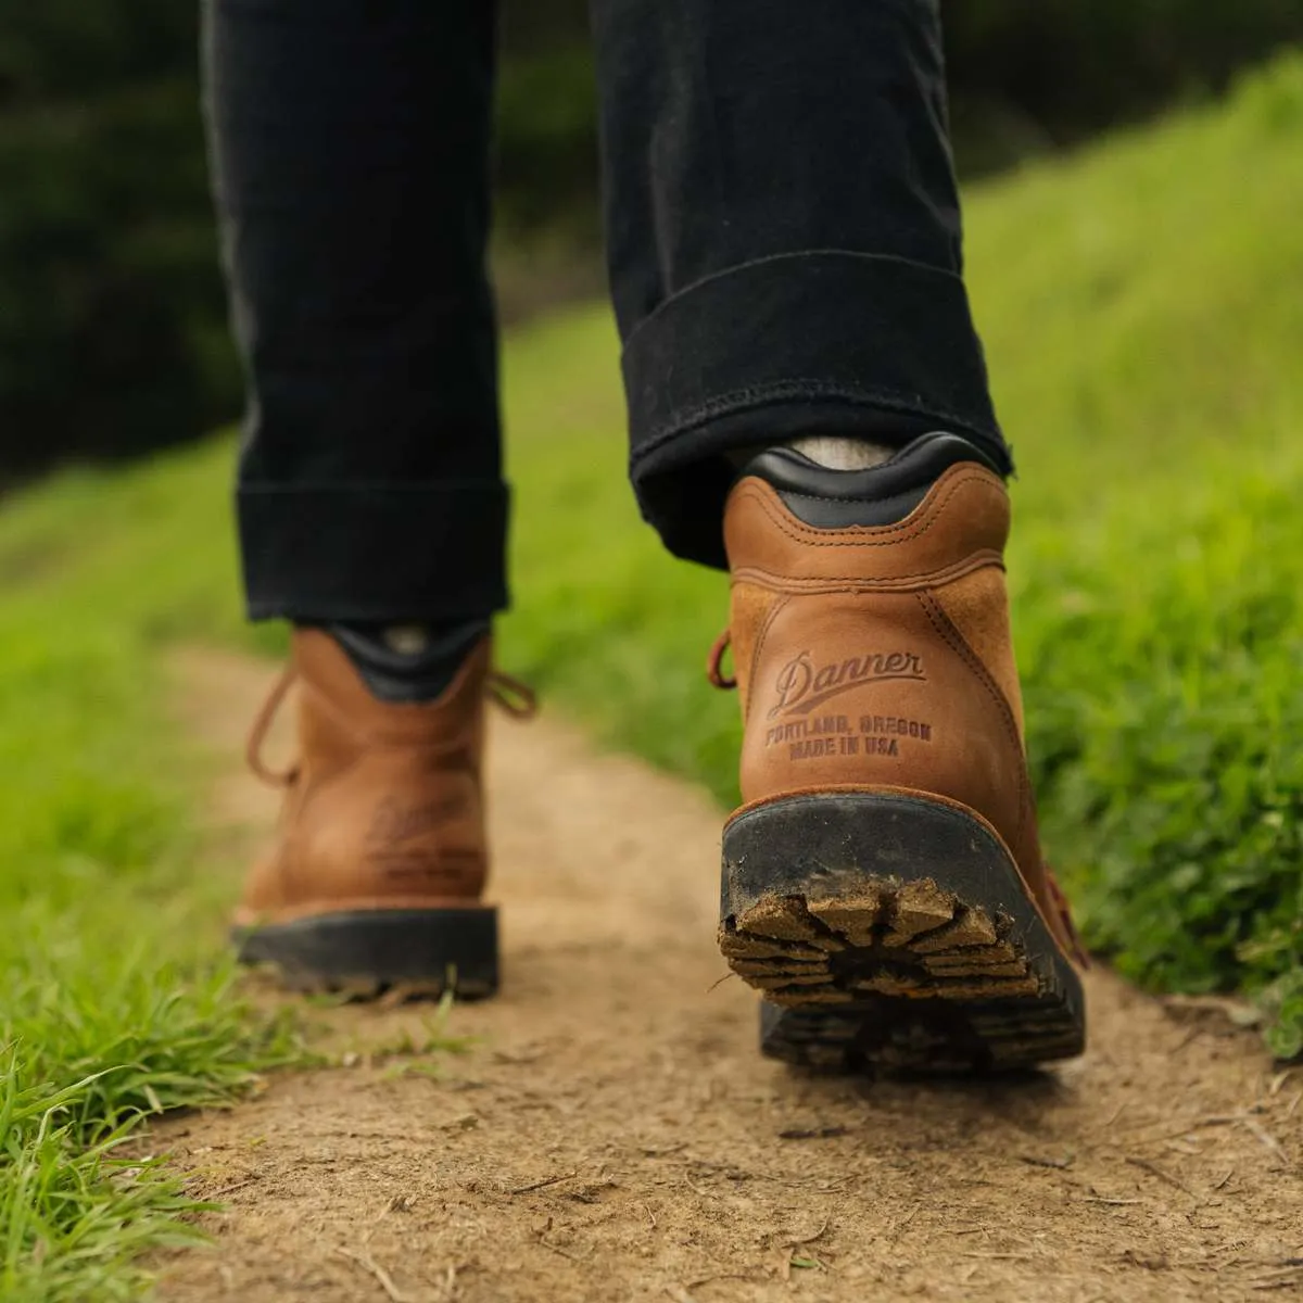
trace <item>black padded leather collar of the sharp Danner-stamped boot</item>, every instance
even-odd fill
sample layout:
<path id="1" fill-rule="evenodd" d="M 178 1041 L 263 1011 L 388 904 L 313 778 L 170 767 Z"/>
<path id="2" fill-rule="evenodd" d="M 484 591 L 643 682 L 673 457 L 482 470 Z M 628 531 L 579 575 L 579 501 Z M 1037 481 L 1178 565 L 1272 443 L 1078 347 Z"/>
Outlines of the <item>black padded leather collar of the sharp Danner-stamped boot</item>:
<path id="1" fill-rule="evenodd" d="M 998 474 L 976 444 L 937 431 L 919 435 L 890 461 L 868 470 L 831 470 L 792 448 L 767 448 L 748 463 L 743 476 L 754 476 L 775 489 L 804 524 L 847 529 L 904 520 L 937 480 L 962 463 L 976 463 Z"/>

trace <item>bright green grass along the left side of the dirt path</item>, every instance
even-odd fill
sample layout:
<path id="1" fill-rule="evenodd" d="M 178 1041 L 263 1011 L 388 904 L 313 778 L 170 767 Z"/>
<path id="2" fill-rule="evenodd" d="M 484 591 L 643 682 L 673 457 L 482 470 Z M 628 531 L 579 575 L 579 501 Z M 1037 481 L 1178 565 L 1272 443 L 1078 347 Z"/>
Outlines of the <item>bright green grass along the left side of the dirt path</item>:
<path id="1" fill-rule="evenodd" d="M 69 480 L 0 519 L 5 1300 L 141 1298 L 138 1253 L 193 1237 L 192 1205 L 124 1141 L 294 1054 L 216 958 L 225 887 L 199 855 L 155 654 L 185 602 L 152 588 L 168 558 L 130 542 L 175 500 L 124 482 L 106 512 L 107 489 Z"/>

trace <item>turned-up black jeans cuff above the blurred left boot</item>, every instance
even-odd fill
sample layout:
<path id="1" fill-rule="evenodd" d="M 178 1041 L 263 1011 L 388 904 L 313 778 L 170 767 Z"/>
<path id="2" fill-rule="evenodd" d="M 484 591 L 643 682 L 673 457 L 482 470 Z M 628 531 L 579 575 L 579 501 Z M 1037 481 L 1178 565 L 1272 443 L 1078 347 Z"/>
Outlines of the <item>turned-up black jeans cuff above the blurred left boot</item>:
<path id="1" fill-rule="evenodd" d="M 481 618 L 507 606 L 508 490 L 242 483 L 240 549 L 253 620 Z"/>

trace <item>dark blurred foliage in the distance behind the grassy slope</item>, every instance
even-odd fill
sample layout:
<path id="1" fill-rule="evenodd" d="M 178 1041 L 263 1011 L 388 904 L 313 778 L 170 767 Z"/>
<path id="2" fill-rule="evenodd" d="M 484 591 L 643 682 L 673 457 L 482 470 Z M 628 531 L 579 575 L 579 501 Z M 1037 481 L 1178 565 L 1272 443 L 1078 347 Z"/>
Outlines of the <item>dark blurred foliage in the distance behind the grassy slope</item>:
<path id="1" fill-rule="evenodd" d="M 966 177 L 1072 146 L 1303 39 L 1299 0 L 945 0 Z M 192 0 L 0 5 L 0 489 L 229 420 Z M 590 293 L 585 0 L 507 0 L 498 116 L 508 319 Z"/>

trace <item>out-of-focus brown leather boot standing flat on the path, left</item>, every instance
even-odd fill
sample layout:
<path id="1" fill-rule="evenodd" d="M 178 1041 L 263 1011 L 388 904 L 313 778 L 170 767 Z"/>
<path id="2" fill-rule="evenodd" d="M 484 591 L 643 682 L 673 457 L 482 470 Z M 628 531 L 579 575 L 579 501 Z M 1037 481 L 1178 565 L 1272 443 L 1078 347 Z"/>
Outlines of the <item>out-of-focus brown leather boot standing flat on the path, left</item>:
<path id="1" fill-rule="evenodd" d="M 296 631 L 250 737 L 250 764 L 285 787 L 285 804 L 236 911 L 241 960 L 274 963 L 300 988 L 496 990 L 498 916 L 481 900 L 483 700 L 493 692 L 513 714 L 533 700 L 490 657 L 486 637 L 438 700 L 394 704 L 328 633 Z M 296 680 L 300 758 L 268 774 L 262 737 Z"/>

